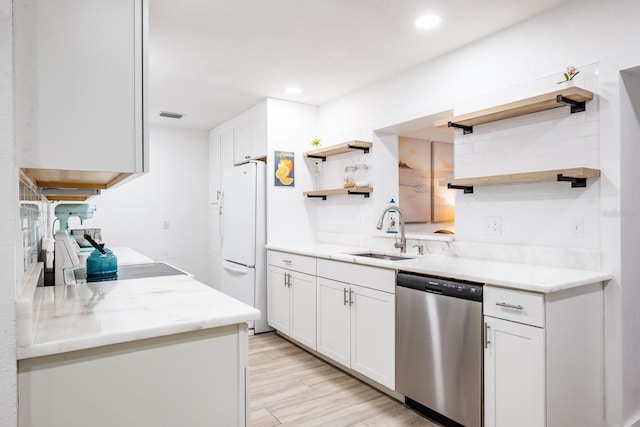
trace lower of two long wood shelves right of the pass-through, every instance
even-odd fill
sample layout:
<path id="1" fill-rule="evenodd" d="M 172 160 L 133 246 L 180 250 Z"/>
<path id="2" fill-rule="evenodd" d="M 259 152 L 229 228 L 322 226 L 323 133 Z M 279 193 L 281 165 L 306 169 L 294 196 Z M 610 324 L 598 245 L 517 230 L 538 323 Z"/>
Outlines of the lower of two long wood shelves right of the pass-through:
<path id="1" fill-rule="evenodd" d="M 506 175 L 479 176 L 475 178 L 459 178 L 445 182 L 448 188 L 464 190 L 465 193 L 473 193 L 473 187 L 477 185 L 527 184 L 547 181 L 568 181 L 571 182 L 572 188 L 586 187 L 587 178 L 598 178 L 599 176 L 599 169 L 571 168 L 539 172 L 512 173 Z"/>

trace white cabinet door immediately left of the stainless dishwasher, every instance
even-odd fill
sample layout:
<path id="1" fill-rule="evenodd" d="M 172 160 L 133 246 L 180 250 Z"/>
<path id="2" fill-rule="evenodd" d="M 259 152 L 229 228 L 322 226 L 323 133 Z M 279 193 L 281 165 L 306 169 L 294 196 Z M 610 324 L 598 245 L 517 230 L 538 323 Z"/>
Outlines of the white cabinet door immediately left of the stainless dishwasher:
<path id="1" fill-rule="evenodd" d="M 351 368 L 395 388 L 395 295 L 351 286 Z"/>

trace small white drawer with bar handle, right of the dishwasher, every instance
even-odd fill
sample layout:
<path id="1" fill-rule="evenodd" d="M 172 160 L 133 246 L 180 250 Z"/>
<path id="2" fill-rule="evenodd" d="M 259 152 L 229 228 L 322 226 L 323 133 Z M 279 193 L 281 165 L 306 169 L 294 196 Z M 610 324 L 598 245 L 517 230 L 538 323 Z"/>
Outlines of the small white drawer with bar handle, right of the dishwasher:
<path id="1" fill-rule="evenodd" d="M 484 314 L 527 325 L 544 327 L 544 295 L 485 286 Z"/>

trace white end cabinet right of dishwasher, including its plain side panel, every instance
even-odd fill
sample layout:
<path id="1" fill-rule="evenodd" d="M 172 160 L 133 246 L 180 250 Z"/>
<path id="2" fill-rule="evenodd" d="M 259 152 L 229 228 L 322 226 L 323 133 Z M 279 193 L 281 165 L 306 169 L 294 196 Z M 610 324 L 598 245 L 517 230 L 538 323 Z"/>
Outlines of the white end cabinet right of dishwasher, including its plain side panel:
<path id="1" fill-rule="evenodd" d="M 604 425 L 602 294 L 484 287 L 485 427 Z"/>

